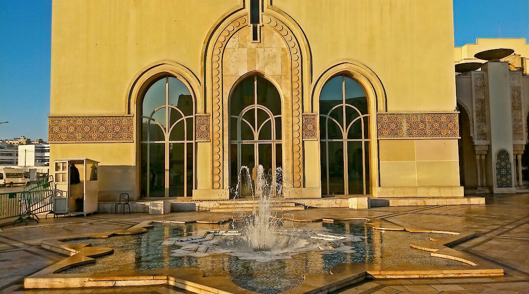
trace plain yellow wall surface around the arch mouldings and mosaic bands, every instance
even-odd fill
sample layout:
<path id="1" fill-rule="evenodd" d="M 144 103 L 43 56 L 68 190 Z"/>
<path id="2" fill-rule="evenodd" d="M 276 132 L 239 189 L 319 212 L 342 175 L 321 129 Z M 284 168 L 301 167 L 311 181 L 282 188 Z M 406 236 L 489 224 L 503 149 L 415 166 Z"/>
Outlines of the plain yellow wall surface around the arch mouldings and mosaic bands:
<path id="1" fill-rule="evenodd" d="M 209 74 L 204 68 L 207 38 L 215 25 L 242 7 L 242 3 L 243 0 L 53 1 L 51 115 L 134 114 L 134 105 L 129 112 L 127 96 L 131 82 L 141 69 L 160 60 L 186 67 L 200 82 L 200 91 L 204 91 L 205 76 Z M 275 0 L 271 9 L 285 19 L 286 15 L 291 16 L 291 25 L 298 25 L 301 30 L 296 38 L 303 37 L 308 42 L 310 54 L 303 57 L 307 61 L 303 112 L 314 111 L 309 95 L 317 78 L 344 59 L 360 62 L 376 74 L 384 87 L 385 97 L 377 98 L 379 104 L 387 104 L 385 111 L 454 110 L 451 0 Z M 299 32 L 298 28 L 291 29 Z M 248 32 L 241 31 L 239 40 L 243 34 Z M 227 72 L 224 87 L 232 85 L 245 71 L 258 69 L 259 60 L 264 62 L 263 68 L 271 65 L 268 60 L 277 59 L 276 66 L 286 62 L 281 53 L 282 41 L 274 39 L 266 26 L 262 34 L 263 47 L 269 42 L 277 52 L 272 50 L 267 55 L 263 49 L 264 55 L 260 56 L 256 45 L 243 48 L 247 50 L 245 54 L 226 53 L 234 59 L 223 65 Z M 227 48 L 240 51 L 234 42 L 235 39 Z M 288 75 L 281 66 L 270 68 L 277 74 L 271 76 L 285 84 L 283 79 Z M 211 100 L 206 103 L 206 112 L 209 103 Z M 317 104 L 317 100 L 313 103 Z M 457 140 L 379 143 L 380 174 L 376 167 L 378 158 L 372 159 L 370 169 L 374 173 L 373 186 L 459 186 Z M 211 148 L 211 143 L 198 146 L 197 170 L 207 173 L 197 179 L 198 188 L 211 189 Z M 310 171 L 305 174 L 305 187 L 316 190 L 321 187 L 317 169 L 320 158 L 314 154 L 317 149 L 317 142 L 306 142 L 305 152 L 310 154 L 304 155 L 304 163 Z M 372 154 L 377 156 L 376 152 Z M 51 160 L 87 157 L 101 161 L 102 175 L 105 169 L 109 171 L 108 177 L 100 178 L 103 199 L 111 199 L 117 190 L 137 191 L 139 187 L 136 143 L 52 143 L 50 155 Z M 110 173 L 113 167 L 121 167 L 122 177 Z M 389 195 L 386 190 L 372 191 Z"/>

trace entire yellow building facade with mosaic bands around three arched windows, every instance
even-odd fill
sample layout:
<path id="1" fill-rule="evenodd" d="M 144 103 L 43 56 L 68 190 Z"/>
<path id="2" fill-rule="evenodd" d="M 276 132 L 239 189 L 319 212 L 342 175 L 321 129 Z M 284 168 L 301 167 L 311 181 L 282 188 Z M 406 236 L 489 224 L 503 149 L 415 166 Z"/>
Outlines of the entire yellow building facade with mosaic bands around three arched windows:
<path id="1" fill-rule="evenodd" d="M 272 165 L 282 167 L 287 197 L 463 196 L 452 19 L 450 0 L 56 0 L 51 160 L 100 161 L 100 201 L 114 201 L 121 192 L 144 198 L 142 185 L 157 187 L 166 197 L 227 199 L 234 158 L 241 157 L 239 151 L 232 157 L 233 146 L 251 143 L 258 150 L 263 143 L 236 141 L 231 129 L 234 93 L 258 76 L 254 87 L 272 85 L 279 97 L 267 107 L 280 104 L 280 114 L 271 118 L 280 119 L 280 139 L 266 142 L 276 150 L 266 154 L 274 154 Z M 187 89 L 184 96 L 193 107 L 186 130 L 193 139 L 171 141 L 167 133 L 165 171 L 151 164 L 146 172 L 142 160 L 155 153 L 151 147 L 142 153 L 142 144 L 162 146 L 163 140 L 143 138 L 144 119 L 150 124 L 152 118 L 145 118 L 142 103 L 164 77 L 167 87 L 170 77 Z M 344 133 L 340 140 L 322 139 L 321 97 L 336 77 L 346 85 L 336 101 L 349 95 L 346 87 L 353 84 L 363 91 L 354 98 L 365 102 L 362 112 L 360 104 L 351 107 L 354 99 L 343 98 L 344 122 L 350 116 L 346 108 L 361 116 L 359 138 Z M 261 106 L 256 113 L 265 109 Z M 335 158 L 349 158 L 343 159 L 341 177 L 349 182 L 342 190 L 322 188 L 322 182 L 331 185 L 330 171 L 322 166 L 332 165 L 333 156 L 322 146 L 333 140 L 345 146 Z M 350 141 L 357 147 L 348 154 Z M 169 158 L 177 142 L 189 146 L 182 174 L 172 171 Z M 269 160 L 256 154 L 257 163 Z M 156 179 L 154 168 L 161 170 Z M 171 192 L 180 189 L 179 181 L 186 188 Z"/>

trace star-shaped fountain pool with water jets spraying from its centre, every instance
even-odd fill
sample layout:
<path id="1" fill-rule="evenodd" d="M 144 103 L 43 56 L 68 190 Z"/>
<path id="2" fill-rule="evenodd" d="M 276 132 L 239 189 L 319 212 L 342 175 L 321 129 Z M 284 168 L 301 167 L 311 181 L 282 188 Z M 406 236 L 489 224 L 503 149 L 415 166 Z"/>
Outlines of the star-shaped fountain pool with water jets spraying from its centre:
<path id="1" fill-rule="evenodd" d="M 281 179 L 280 169 L 276 174 Z M 232 190 L 233 200 L 239 199 L 240 191 L 247 195 L 251 191 L 249 214 L 234 211 L 233 222 L 221 224 L 158 220 L 145 234 L 72 241 L 112 247 L 114 254 L 61 273 L 194 267 L 206 277 L 229 276 L 245 289 L 275 294 L 298 286 L 307 274 L 329 274 L 341 263 L 381 263 L 384 258 L 386 265 L 410 261 L 436 267 L 459 265 L 448 259 L 433 260 L 429 252 L 410 247 L 428 241 L 432 234 L 375 231 L 358 220 L 283 221 L 285 215 L 274 209 L 282 198 L 280 181 L 262 166 L 255 170 L 255 184 L 250 176 L 250 169 L 242 167 Z M 123 263 L 127 259 L 132 262 Z"/>

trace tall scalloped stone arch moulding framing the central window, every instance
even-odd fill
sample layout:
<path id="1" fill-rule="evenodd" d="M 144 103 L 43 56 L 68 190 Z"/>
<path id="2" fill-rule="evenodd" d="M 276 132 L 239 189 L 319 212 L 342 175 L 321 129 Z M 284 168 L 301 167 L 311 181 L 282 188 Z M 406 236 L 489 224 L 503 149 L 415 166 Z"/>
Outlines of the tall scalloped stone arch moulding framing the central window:
<path id="1" fill-rule="evenodd" d="M 294 188 L 303 186 L 303 141 L 302 141 L 302 114 L 303 114 L 303 91 L 308 87 L 308 65 L 306 56 L 308 45 L 304 35 L 297 35 L 290 27 L 297 27 L 294 22 L 286 19 L 277 8 L 272 9 L 270 3 L 266 3 L 262 13 L 262 22 L 279 34 L 285 42 L 290 58 L 290 69 L 288 75 L 291 79 L 289 95 L 285 100 L 291 102 L 291 145 L 285 153 L 286 158 L 292 160 L 292 166 L 286 167 L 285 178 L 291 180 Z M 235 8 L 231 14 L 223 16 L 214 29 L 208 33 L 204 46 L 204 80 L 206 111 L 212 116 L 212 188 L 227 189 L 227 98 L 225 80 L 223 79 L 223 58 L 227 43 L 230 38 L 248 27 L 248 13 L 244 6 Z M 303 45 L 300 45 L 303 40 Z M 246 75 L 244 73 L 242 75 Z M 231 88 L 231 86 L 230 86 Z M 228 91 L 229 93 L 229 91 Z M 288 97 L 287 97 L 288 96 Z M 290 109 L 289 109 L 290 111 Z M 285 130 L 285 128 L 284 128 Z M 288 163 L 287 163 L 288 164 Z M 290 179 L 289 179 L 290 178 Z"/>

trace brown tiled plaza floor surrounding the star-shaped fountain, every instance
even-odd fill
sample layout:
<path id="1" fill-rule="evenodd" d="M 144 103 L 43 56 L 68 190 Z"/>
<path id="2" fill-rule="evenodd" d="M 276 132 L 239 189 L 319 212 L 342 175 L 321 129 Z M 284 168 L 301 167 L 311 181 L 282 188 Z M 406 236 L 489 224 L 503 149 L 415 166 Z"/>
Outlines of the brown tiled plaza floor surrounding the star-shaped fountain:
<path id="1" fill-rule="evenodd" d="M 529 194 L 487 196 L 486 205 L 379 207 L 366 210 L 308 209 L 296 218 L 369 217 L 399 226 L 475 232 L 479 236 L 454 249 L 475 255 L 505 270 L 504 277 L 370 280 L 341 292 L 353 293 L 527 293 L 529 294 Z M 65 256 L 44 250 L 42 240 L 124 229 L 152 219 L 225 219 L 207 212 L 96 214 L 42 219 L 39 224 L 4 226 L 0 232 L 0 293 L 180 293 L 172 287 L 120 287 L 24 290 L 23 278 Z"/>

